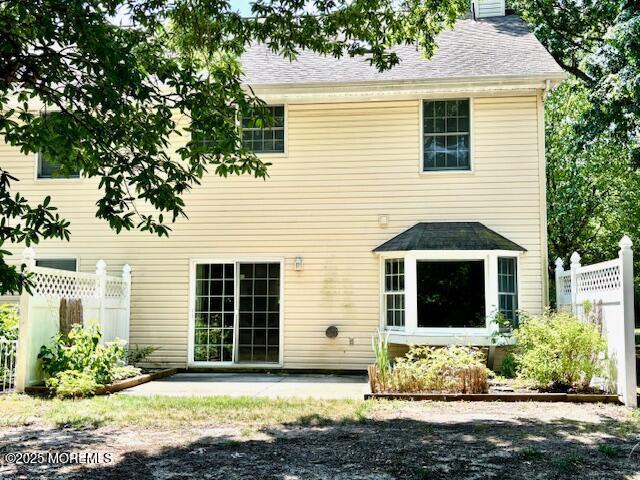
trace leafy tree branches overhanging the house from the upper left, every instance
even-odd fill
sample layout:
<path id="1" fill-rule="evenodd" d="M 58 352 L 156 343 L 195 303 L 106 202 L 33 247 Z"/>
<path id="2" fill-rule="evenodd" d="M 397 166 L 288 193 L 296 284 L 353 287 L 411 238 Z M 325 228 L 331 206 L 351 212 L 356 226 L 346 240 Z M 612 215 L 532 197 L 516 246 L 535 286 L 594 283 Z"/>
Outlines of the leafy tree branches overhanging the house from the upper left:
<path id="1" fill-rule="evenodd" d="M 467 0 L 256 0 L 243 18 L 229 3 L 2 1 L 0 135 L 63 173 L 99 178 L 96 215 L 116 232 L 166 235 L 206 171 L 267 175 L 237 128 L 238 116 L 269 122 L 242 86 L 238 58 L 251 42 L 287 58 L 301 49 L 362 55 L 384 70 L 399 61 L 392 45 L 418 42 L 432 54 L 435 36 L 468 9 Z M 177 159 L 176 115 L 189 118 L 182 133 L 191 138 Z M 0 165 L 0 294 L 28 286 L 24 265 L 8 265 L 2 245 L 69 237 L 50 200 L 29 203 L 12 190 L 16 180 Z"/>

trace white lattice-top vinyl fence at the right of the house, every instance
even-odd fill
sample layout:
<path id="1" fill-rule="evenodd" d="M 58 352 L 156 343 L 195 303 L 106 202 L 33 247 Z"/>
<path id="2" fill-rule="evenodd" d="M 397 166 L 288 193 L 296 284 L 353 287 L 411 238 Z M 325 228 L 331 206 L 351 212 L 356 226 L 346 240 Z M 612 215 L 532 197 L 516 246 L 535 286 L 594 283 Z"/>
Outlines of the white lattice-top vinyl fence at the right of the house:
<path id="1" fill-rule="evenodd" d="M 602 325 L 609 358 L 615 365 L 611 381 L 627 406 L 637 406 L 635 319 L 633 310 L 633 252 L 626 235 L 620 240 L 618 258 L 582 266 L 580 255 L 571 255 L 564 270 L 556 260 L 556 302 L 558 310 L 570 309 L 584 321 Z M 585 303 L 591 312 L 585 312 Z M 589 315 L 587 315 L 587 313 Z"/>

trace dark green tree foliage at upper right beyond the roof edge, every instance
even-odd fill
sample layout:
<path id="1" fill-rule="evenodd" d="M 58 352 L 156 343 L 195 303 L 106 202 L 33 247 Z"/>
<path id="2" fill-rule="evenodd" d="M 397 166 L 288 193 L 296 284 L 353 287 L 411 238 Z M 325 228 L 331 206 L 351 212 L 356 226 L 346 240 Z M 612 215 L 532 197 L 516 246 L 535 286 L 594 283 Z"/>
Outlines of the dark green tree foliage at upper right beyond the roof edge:
<path id="1" fill-rule="evenodd" d="M 640 0 L 512 0 L 555 60 L 585 87 L 583 144 L 626 145 L 640 167 Z"/>

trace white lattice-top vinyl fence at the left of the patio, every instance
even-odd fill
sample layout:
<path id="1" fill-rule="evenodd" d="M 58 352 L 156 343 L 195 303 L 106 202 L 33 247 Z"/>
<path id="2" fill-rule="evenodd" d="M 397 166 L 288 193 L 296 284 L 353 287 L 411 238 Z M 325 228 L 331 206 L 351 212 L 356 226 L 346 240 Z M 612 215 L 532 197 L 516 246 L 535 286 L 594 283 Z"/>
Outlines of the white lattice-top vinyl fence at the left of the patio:
<path id="1" fill-rule="evenodd" d="M 131 268 L 125 265 L 122 277 L 107 275 L 107 264 L 99 260 L 96 273 L 70 272 L 35 266 L 35 252 L 23 252 L 23 261 L 32 274 L 31 293 L 20 296 L 20 325 L 16 359 L 16 391 L 42 381 L 38 362 L 40 347 L 60 331 L 60 301 L 82 302 L 82 323 L 97 323 L 102 341 L 116 338 L 129 341 Z"/>

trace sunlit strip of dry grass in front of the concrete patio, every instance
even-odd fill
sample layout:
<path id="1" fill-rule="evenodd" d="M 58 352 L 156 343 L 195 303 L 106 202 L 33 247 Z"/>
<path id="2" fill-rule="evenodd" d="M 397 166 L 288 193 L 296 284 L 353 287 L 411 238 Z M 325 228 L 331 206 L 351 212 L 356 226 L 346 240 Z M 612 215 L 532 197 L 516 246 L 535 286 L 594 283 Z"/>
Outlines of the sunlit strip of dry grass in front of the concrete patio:
<path id="1" fill-rule="evenodd" d="M 253 397 L 99 396 L 81 400 L 9 395 L 0 398 L 0 426 L 43 423 L 70 428 L 193 425 L 323 426 L 366 421 L 373 402 L 359 400 L 273 400 Z"/>

